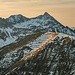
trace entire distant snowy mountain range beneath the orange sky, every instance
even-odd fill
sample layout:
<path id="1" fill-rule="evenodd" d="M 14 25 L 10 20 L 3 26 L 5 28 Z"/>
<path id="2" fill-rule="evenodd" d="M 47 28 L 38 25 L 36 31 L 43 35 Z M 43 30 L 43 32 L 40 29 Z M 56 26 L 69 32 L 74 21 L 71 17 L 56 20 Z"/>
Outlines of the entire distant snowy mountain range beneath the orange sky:
<path id="1" fill-rule="evenodd" d="M 35 18 L 27 18 L 21 14 L 11 15 L 6 19 L 0 18 L 0 47 L 38 32 L 60 32 L 75 36 L 75 30 L 62 25 L 47 12 Z"/>

